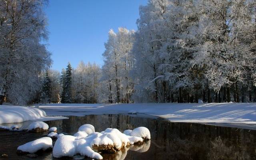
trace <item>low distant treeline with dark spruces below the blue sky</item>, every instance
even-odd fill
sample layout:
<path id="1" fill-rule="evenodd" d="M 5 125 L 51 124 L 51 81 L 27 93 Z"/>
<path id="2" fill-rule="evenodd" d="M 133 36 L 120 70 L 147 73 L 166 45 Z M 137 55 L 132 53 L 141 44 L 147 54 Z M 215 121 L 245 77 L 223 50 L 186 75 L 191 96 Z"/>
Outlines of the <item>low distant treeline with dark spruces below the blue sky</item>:
<path id="1" fill-rule="evenodd" d="M 46 70 L 40 75 L 41 90 L 31 103 L 97 103 L 100 75 L 100 66 L 82 61 L 75 69 L 68 63 L 61 73 Z"/>

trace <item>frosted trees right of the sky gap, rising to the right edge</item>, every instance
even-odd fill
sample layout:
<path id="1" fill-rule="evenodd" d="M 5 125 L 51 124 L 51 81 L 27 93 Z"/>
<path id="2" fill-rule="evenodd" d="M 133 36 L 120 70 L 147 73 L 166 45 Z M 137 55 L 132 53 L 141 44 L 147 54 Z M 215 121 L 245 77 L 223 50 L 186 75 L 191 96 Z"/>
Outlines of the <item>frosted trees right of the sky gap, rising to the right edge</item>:
<path id="1" fill-rule="evenodd" d="M 149 0 L 137 25 L 109 32 L 108 102 L 256 100 L 255 0 Z"/>

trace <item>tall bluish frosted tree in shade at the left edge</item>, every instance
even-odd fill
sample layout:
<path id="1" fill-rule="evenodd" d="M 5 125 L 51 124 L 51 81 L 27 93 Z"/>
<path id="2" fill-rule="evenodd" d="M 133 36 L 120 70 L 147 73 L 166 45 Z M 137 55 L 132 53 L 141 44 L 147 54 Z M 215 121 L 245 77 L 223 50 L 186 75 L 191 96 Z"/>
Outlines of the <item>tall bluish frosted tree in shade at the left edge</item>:
<path id="1" fill-rule="evenodd" d="M 51 64 L 45 0 L 0 1 L 1 102 L 26 104 L 40 89 L 39 74 Z"/>

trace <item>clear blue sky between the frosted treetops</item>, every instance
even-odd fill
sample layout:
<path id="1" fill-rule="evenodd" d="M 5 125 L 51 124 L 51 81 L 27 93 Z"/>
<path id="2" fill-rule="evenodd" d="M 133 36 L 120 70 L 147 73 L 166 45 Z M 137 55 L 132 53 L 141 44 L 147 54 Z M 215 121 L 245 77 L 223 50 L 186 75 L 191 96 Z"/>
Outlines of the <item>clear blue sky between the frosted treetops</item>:
<path id="1" fill-rule="evenodd" d="M 102 66 L 108 31 L 118 27 L 137 30 L 139 6 L 147 0 L 49 0 L 45 8 L 50 32 L 48 50 L 52 69 L 72 67 L 83 60 Z"/>

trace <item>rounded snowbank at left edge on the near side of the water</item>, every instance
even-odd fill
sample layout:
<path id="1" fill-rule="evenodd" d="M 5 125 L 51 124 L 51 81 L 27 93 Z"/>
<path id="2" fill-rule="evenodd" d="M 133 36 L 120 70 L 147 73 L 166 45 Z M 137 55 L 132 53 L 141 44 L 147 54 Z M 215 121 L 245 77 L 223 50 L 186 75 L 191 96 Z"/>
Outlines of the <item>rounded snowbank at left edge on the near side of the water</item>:
<path id="1" fill-rule="evenodd" d="M 46 121 L 64 119 L 65 117 L 48 117 L 43 110 L 34 107 L 0 106 L 0 124 L 20 123 L 28 120 Z"/>

